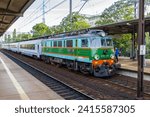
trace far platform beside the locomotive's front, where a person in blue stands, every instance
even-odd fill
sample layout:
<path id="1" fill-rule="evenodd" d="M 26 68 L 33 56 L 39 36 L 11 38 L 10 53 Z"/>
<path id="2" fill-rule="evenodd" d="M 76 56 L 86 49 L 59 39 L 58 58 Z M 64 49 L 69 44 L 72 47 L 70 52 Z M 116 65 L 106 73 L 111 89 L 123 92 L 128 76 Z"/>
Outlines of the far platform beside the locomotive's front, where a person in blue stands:
<path id="1" fill-rule="evenodd" d="M 122 69 L 127 69 L 131 71 L 137 71 L 138 70 L 138 61 L 132 60 L 129 57 L 119 57 L 119 62 L 121 63 Z M 150 74 L 150 59 L 145 59 L 144 62 L 144 73 Z"/>

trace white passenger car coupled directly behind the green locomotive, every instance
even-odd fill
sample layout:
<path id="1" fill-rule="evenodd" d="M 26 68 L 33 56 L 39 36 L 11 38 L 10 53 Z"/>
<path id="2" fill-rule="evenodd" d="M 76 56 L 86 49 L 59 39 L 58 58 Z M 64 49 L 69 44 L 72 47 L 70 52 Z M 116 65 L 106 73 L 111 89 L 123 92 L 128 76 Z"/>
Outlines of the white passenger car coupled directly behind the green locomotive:
<path id="1" fill-rule="evenodd" d="M 40 39 L 19 42 L 19 52 L 27 56 L 40 58 L 42 52 L 41 41 Z"/>

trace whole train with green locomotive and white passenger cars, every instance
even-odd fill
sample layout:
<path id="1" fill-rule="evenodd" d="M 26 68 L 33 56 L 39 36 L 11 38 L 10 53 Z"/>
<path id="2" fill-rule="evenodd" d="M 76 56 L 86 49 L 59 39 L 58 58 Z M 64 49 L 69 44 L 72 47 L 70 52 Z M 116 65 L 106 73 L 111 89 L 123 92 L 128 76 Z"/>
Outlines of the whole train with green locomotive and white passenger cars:
<path id="1" fill-rule="evenodd" d="M 5 43 L 4 49 L 42 59 L 47 63 L 65 65 L 69 69 L 108 77 L 116 73 L 120 64 L 115 61 L 112 38 L 102 30 L 66 33 Z"/>

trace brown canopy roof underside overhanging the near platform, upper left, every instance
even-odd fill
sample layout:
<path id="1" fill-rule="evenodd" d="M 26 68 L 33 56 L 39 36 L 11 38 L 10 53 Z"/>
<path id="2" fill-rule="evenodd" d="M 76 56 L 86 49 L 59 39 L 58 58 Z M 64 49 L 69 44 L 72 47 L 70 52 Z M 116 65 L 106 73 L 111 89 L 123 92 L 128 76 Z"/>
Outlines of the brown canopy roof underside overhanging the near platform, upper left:
<path id="1" fill-rule="evenodd" d="M 35 0 L 0 0 L 0 36 Z"/>

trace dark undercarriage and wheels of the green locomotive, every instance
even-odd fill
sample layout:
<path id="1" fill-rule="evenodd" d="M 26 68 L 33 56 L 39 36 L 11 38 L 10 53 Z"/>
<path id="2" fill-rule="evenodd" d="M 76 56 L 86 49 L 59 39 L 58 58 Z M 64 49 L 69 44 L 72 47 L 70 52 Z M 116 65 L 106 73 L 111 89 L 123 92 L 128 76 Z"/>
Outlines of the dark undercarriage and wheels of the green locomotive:
<path id="1" fill-rule="evenodd" d="M 80 71 L 83 74 L 92 74 L 95 77 L 110 77 L 113 76 L 120 67 L 119 63 L 109 64 L 103 63 L 94 67 L 91 63 L 72 61 L 67 59 L 41 56 L 41 59 L 46 63 L 55 64 L 57 66 L 66 66 L 68 69 Z"/>

